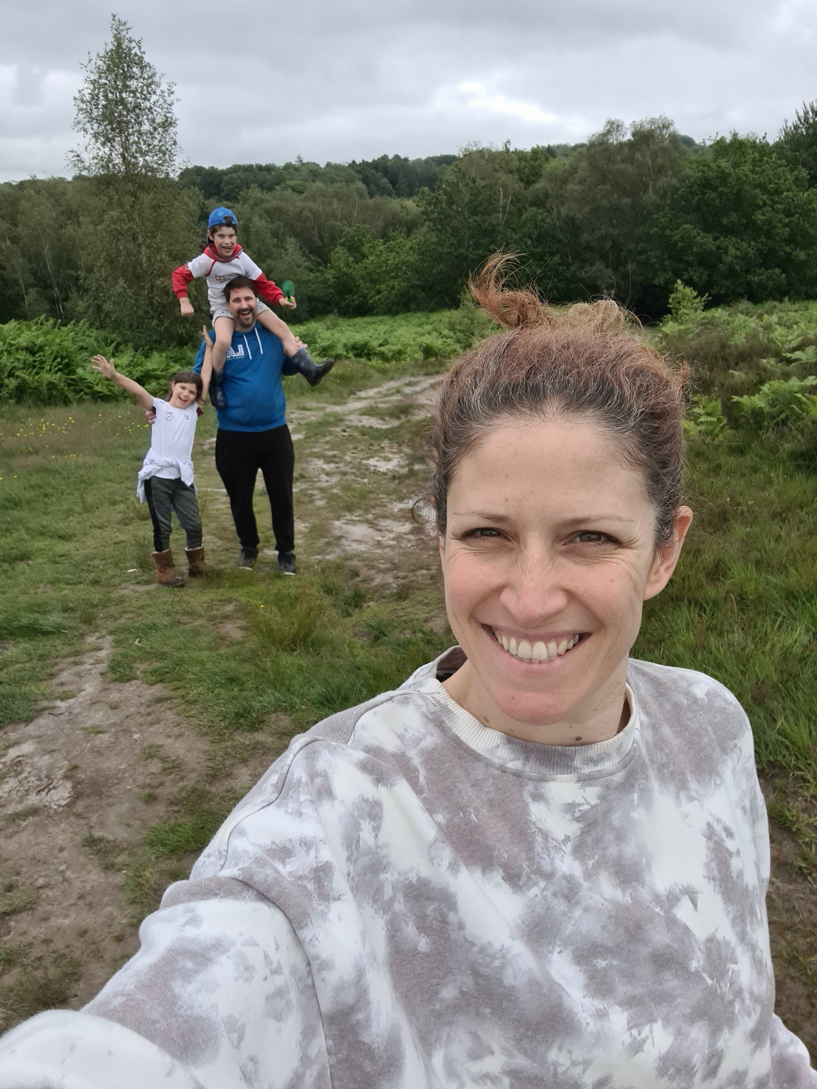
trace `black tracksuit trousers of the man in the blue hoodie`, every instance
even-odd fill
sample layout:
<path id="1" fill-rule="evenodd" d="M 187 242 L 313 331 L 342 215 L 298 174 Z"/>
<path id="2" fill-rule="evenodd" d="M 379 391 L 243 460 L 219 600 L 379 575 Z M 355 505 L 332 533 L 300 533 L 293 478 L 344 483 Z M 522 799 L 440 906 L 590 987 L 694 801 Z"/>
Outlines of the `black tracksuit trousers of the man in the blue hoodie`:
<path id="1" fill-rule="evenodd" d="M 292 474 L 295 452 L 290 429 L 283 424 L 270 431 L 224 431 L 216 433 L 216 468 L 230 497 L 235 531 L 241 547 L 258 548 L 258 526 L 253 510 L 253 492 L 258 469 L 272 512 L 272 533 L 279 553 L 295 548 L 295 518 L 292 507 Z"/>

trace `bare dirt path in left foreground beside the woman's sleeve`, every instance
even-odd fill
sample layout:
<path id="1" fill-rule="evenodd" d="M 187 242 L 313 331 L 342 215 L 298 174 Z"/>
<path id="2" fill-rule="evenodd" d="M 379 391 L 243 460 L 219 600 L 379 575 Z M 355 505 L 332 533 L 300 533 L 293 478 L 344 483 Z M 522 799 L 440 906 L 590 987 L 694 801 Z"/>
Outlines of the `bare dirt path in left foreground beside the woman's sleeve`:
<path id="1" fill-rule="evenodd" d="M 89 640 L 54 678 L 65 697 L 0 735 L 0 939 L 46 976 L 75 960 L 72 1005 L 136 949 L 120 864 L 204 750 L 161 688 L 106 678 L 109 653 Z"/>

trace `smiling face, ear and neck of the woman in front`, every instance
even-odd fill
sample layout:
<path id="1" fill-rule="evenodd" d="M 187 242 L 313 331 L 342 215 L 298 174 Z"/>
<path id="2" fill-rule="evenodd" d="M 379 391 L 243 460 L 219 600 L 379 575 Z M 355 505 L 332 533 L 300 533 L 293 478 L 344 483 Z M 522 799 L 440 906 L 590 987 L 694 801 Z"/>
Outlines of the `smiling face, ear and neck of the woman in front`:
<path id="1" fill-rule="evenodd" d="M 519 420 L 458 467 L 440 539 L 451 627 L 468 661 L 447 687 L 495 729 L 547 744 L 612 736 L 642 602 L 667 584 L 642 475 L 593 423 Z"/>

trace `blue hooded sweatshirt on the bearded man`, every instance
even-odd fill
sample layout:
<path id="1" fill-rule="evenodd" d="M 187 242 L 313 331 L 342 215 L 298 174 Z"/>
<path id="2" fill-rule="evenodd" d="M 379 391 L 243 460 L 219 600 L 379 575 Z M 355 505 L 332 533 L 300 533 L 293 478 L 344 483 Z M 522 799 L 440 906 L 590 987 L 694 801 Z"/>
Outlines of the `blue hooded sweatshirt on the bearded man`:
<path id="1" fill-rule="evenodd" d="M 216 340 L 215 333 L 210 339 Z M 202 372 L 205 346 L 202 343 L 193 369 Z M 248 332 L 233 333 L 227 350 L 222 371 L 222 389 L 227 408 L 217 408 L 219 428 L 223 431 L 270 431 L 286 423 L 286 399 L 281 375 L 296 375 L 283 353 L 279 337 L 264 326 L 255 325 Z"/>

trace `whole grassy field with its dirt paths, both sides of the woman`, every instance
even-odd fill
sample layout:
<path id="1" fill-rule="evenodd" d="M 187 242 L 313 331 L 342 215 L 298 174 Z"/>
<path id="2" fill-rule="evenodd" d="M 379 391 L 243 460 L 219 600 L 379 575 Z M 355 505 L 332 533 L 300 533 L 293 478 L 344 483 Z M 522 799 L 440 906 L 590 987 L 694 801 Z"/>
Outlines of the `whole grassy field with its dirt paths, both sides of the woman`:
<path id="1" fill-rule="evenodd" d="M 59 749 L 65 732 L 49 723 L 78 708 L 80 754 L 61 757 L 73 790 L 64 810 L 9 803 L 2 816 L 0 1027 L 94 993 L 133 950 L 138 919 L 292 734 L 449 645 L 434 540 L 408 514 L 427 486 L 428 403 L 442 366 L 343 363 L 315 391 L 288 380 L 297 579 L 276 574 L 271 552 L 253 573 L 232 567 L 208 411 L 194 457 L 219 573 L 173 592 L 153 587 L 149 521 L 134 498 L 142 414 L 125 403 L 0 411 L 0 718 L 38 715 Z M 728 431 L 691 442 L 687 494 L 695 525 L 670 586 L 647 604 L 635 653 L 712 674 L 749 714 L 770 812 L 785 830 L 780 872 L 797 890 L 786 900 L 783 882 L 776 893 L 776 969 L 783 998 L 794 995 L 788 1019 L 814 1048 L 817 476 L 785 443 Z M 269 551 L 265 503 L 259 494 Z M 174 544 L 181 553 L 178 527 Z M 0 761 L 23 736 L 0 731 Z M 115 798 L 94 779 L 99 761 L 134 792 L 119 823 L 105 811 Z M 0 778 L 0 803 L 2 790 Z M 107 890 L 107 921 L 82 933 L 59 929 L 49 890 L 26 870 L 26 851 L 57 822 L 66 873 Z"/>

